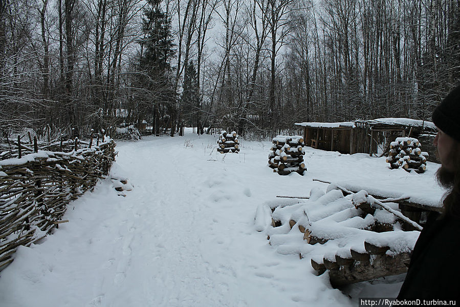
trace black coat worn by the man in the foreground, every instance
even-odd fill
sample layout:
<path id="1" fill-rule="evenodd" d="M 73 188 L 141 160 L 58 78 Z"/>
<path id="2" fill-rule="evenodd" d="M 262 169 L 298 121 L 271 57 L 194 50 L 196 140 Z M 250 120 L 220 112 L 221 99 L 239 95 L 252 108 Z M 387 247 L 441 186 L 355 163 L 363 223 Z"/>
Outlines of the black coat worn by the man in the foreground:
<path id="1" fill-rule="evenodd" d="M 429 215 L 415 243 L 398 298 L 460 302 L 460 220 Z"/>

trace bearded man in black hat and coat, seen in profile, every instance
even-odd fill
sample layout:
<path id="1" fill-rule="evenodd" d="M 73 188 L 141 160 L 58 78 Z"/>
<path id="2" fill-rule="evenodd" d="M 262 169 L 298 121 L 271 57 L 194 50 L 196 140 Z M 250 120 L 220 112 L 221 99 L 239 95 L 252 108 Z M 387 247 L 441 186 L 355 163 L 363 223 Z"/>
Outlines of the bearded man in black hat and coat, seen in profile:
<path id="1" fill-rule="evenodd" d="M 438 132 L 433 141 L 441 167 L 439 184 L 447 189 L 442 214 L 431 213 L 415 243 L 398 299 L 454 299 L 460 303 L 460 86 L 433 112 Z"/>

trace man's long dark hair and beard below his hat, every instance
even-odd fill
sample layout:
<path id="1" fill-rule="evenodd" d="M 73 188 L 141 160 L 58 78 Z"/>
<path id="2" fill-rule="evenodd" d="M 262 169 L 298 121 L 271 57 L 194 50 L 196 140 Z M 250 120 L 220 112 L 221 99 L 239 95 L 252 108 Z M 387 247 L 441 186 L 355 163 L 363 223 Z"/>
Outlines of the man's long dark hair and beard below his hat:
<path id="1" fill-rule="evenodd" d="M 460 218 L 460 143 L 455 142 L 448 158 L 453 162 L 453 171 L 441 166 L 436 172 L 437 182 L 448 189 L 444 194 L 444 216 Z"/>

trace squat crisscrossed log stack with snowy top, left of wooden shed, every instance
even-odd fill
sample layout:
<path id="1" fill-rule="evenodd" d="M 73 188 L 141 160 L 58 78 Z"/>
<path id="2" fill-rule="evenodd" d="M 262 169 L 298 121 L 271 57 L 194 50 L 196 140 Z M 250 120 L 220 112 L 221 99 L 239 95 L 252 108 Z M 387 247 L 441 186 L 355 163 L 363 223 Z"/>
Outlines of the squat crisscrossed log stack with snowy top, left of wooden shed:
<path id="1" fill-rule="evenodd" d="M 269 167 L 279 175 L 289 175 L 292 172 L 303 175 L 303 172 L 306 171 L 303 146 L 303 137 L 299 135 L 274 137 L 272 151 L 268 155 Z"/>

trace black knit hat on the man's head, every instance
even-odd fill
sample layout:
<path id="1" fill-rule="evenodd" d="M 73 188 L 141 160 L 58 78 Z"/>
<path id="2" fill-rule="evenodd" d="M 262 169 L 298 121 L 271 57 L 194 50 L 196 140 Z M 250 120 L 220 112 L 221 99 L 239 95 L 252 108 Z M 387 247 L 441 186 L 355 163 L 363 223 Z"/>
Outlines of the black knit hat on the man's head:
<path id="1" fill-rule="evenodd" d="M 460 85 L 441 101 L 431 118 L 437 128 L 460 142 Z"/>

